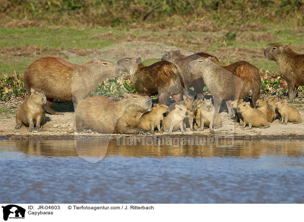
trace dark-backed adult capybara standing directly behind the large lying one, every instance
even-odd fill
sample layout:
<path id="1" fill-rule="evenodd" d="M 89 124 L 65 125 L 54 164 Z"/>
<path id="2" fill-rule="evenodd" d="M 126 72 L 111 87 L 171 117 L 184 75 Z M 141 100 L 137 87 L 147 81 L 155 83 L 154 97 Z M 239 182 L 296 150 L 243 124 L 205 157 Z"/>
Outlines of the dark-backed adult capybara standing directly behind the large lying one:
<path id="1" fill-rule="evenodd" d="M 159 95 L 159 103 L 165 104 L 170 96 L 178 102 L 182 99 L 184 82 L 178 68 L 169 61 L 158 61 L 145 66 L 141 58 L 122 58 L 117 64 L 122 72 L 130 74 L 131 82 L 138 93 Z"/>

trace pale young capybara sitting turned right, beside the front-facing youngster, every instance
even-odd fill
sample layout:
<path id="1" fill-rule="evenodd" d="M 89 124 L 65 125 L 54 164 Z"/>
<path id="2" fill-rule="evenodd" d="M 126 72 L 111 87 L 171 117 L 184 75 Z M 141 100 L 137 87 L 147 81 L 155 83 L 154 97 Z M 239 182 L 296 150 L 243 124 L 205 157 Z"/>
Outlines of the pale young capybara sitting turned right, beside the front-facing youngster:
<path id="1" fill-rule="evenodd" d="M 183 120 L 188 115 L 187 108 L 183 105 L 175 104 L 175 109 L 163 119 L 162 130 L 171 134 L 173 131 L 180 131 L 183 133 Z"/>

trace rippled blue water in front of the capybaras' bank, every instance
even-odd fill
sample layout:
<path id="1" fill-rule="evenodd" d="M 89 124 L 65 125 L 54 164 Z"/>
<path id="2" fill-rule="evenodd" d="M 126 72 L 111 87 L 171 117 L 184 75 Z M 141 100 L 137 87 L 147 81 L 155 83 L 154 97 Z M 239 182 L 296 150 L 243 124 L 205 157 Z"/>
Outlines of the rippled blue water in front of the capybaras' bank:
<path id="1" fill-rule="evenodd" d="M 141 147 L 113 141 L 101 161 L 90 163 L 72 140 L 2 140 L 0 202 L 304 202 L 303 140 L 235 145 Z M 101 154 L 92 149 L 88 155 Z"/>

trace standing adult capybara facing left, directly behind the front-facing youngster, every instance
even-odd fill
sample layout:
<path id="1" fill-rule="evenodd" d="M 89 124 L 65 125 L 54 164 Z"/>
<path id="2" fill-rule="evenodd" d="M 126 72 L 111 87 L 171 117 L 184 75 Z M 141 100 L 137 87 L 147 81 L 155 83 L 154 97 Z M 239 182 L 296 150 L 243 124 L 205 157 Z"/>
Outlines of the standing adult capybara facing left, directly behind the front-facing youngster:
<path id="1" fill-rule="evenodd" d="M 259 99 L 261 79 L 259 70 L 247 61 L 237 61 L 221 66 L 212 57 L 197 59 L 189 64 L 189 71 L 202 75 L 214 97 L 214 106 L 219 111 L 222 100 L 226 101 L 228 115 L 232 115 L 232 100 L 252 96 L 255 107 Z"/>

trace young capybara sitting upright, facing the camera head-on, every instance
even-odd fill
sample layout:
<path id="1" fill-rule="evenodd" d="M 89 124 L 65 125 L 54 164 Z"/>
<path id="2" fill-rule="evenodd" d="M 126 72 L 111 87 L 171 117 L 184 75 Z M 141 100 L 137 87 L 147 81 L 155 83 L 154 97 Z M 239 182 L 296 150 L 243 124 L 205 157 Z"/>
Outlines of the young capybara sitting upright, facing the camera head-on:
<path id="1" fill-rule="evenodd" d="M 217 129 L 222 126 L 220 114 L 215 110 L 211 99 L 204 99 L 201 106 L 201 130 L 204 126 L 209 127 L 210 130 Z"/>

